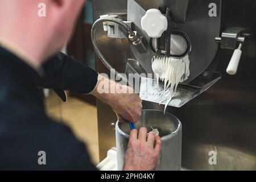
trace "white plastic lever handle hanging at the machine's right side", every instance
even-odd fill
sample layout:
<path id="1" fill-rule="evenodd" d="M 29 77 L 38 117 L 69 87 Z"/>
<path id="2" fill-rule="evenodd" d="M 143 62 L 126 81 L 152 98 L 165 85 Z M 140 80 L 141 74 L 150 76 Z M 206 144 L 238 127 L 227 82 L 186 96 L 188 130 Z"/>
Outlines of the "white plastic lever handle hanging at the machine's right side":
<path id="1" fill-rule="evenodd" d="M 240 44 L 239 47 L 233 53 L 233 56 L 229 62 L 228 68 L 226 69 L 226 72 L 229 75 L 236 75 L 237 73 L 237 68 L 242 55 L 241 49 L 242 49 L 242 44 Z"/>

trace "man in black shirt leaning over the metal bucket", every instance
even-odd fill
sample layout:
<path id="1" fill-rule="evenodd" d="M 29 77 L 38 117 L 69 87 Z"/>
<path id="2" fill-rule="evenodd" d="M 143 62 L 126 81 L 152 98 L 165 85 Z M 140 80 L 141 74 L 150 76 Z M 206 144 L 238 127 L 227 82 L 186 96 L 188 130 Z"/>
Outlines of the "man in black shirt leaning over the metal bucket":
<path id="1" fill-rule="evenodd" d="M 55 55 L 71 37 L 84 0 L 45 0 L 46 17 L 37 14 L 41 2 L 0 0 L 0 169 L 94 170 L 84 144 L 47 117 L 38 87 L 93 94 L 112 106 L 121 122 L 138 121 L 141 100 L 133 93 L 100 94 L 102 81 L 119 85 Z M 160 138 L 147 137 L 146 128 L 130 136 L 123 169 L 154 170 Z M 39 165 L 39 151 L 46 152 L 46 165 Z"/>

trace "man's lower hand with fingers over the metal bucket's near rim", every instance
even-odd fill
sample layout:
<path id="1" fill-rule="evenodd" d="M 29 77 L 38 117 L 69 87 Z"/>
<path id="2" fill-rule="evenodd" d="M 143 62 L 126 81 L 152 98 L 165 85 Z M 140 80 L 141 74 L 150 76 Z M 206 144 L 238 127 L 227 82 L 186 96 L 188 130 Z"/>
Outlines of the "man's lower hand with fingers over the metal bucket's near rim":
<path id="1" fill-rule="evenodd" d="M 156 169 L 162 142 L 159 136 L 155 137 L 150 132 L 147 137 L 147 129 L 131 130 L 130 140 L 125 154 L 125 171 L 153 171 Z"/>

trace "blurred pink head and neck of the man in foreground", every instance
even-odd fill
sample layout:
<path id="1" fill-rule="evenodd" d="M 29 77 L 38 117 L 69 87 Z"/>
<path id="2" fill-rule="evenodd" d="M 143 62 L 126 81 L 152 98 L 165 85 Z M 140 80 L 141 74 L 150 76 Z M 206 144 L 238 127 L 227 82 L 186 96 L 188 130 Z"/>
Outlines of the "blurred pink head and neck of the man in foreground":
<path id="1" fill-rule="evenodd" d="M 0 0 L 0 38 L 19 46 L 36 61 L 43 61 L 67 43 L 84 2 Z"/>

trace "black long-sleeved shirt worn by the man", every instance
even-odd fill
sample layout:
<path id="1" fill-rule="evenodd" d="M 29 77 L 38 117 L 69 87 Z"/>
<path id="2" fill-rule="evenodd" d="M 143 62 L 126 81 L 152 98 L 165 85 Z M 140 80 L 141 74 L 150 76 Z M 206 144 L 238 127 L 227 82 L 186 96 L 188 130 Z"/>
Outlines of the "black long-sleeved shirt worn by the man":
<path id="1" fill-rule="evenodd" d="M 71 130 L 48 118 L 38 87 L 89 93 L 97 72 L 59 53 L 43 66 L 44 77 L 0 47 L 0 169 L 96 170 Z M 39 165 L 39 151 L 46 165 Z"/>

